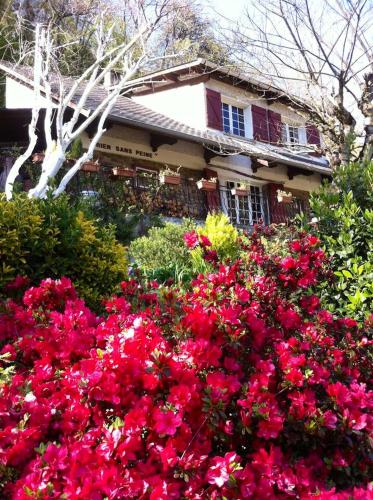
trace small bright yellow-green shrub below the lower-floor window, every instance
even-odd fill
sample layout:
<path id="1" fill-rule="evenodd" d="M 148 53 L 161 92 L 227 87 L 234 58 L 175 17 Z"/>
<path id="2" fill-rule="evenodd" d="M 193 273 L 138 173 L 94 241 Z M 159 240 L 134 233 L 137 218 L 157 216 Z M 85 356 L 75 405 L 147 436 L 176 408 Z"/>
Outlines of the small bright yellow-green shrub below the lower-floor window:
<path id="1" fill-rule="evenodd" d="M 223 213 L 208 214 L 203 227 L 197 229 L 199 234 L 207 236 L 212 249 L 218 254 L 219 260 L 235 259 L 239 252 L 238 231 Z"/>

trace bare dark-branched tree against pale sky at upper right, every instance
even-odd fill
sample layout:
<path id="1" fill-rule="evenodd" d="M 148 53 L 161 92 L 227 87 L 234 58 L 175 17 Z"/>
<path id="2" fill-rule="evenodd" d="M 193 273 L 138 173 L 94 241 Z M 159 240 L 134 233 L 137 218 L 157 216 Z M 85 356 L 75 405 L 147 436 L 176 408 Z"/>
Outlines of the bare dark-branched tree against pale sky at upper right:
<path id="1" fill-rule="evenodd" d="M 318 126 L 337 164 L 372 154 L 362 116 L 372 113 L 366 102 L 372 100 L 372 6 L 371 0 L 257 0 L 231 30 L 237 64 L 280 88 Z"/>

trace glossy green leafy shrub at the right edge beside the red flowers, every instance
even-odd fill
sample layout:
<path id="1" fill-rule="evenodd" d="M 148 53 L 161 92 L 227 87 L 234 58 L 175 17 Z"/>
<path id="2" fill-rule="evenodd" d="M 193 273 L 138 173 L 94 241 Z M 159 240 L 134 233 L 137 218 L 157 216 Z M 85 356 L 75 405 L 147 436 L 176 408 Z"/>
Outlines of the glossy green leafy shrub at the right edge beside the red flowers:
<path id="1" fill-rule="evenodd" d="M 320 289 L 324 305 L 363 319 L 373 306 L 373 164 L 340 167 L 310 206 L 336 278 Z"/>

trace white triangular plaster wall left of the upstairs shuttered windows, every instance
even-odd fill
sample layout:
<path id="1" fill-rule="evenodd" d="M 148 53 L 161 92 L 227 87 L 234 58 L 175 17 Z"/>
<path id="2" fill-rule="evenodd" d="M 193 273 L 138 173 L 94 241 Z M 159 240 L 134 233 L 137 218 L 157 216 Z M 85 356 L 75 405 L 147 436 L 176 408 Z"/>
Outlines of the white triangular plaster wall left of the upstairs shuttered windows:
<path id="1" fill-rule="evenodd" d="M 206 128 L 206 102 L 203 83 L 183 85 L 153 94 L 134 96 L 133 100 L 190 127 Z"/>

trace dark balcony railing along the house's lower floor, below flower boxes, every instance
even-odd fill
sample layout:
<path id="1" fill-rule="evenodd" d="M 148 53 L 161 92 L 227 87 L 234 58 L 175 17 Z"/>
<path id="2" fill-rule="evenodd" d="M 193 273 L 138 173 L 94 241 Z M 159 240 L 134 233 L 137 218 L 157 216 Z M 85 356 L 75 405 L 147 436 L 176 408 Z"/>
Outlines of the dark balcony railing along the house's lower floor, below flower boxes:
<path id="1" fill-rule="evenodd" d="M 287 222 L 303 210 L 300 200 L 284 205 L 268 203 L 260 187 L 251 186 L 247 196 L 233 195 L 231 188 L 219 186 L 216 191 L 198 189 L 197 178 L 181 177 L 177 186 L 161 184 L 158 176 L 137 174 L 133 178 L 114 178 L 104 172 L 79 172 L 70 185 L 74 194 L 100 197 L 109 205 L 166 217 L 189 217 L 204 220 L 210 211 L 222 211 L 231 222 L 249 229 L 254 224 Z"/>

